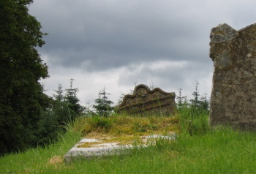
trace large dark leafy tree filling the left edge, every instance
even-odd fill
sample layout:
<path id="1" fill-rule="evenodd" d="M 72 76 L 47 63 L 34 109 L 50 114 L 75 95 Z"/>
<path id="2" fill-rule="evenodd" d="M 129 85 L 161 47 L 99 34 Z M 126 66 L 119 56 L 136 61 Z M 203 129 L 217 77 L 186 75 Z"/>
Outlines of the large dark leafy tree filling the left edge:
<path id="1" fill-rule="evenodd" d="M 0 1 L 0 154 L 37 145 L 50 102 L 39 83 L 48 67 L 35 49 L 45 44 L 45 33 L 28 13 L 32 2 Z"/>

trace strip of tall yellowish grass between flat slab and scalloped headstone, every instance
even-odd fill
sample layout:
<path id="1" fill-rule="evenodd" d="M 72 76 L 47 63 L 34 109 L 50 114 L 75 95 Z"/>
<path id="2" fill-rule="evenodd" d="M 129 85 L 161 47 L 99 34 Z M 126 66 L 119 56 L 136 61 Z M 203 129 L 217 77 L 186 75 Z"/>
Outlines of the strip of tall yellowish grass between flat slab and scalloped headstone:
<path id="1" fill-rule="evenodd" d="M 82 136 L 86 137 L 102 134 L 111 136 L 151 135 L 152 133 L 178 132 L 178 122 L 178 116 L 118 114 L 108 118 L 99 116 L 78 118 L 72 129 L 82 132 Z"/>

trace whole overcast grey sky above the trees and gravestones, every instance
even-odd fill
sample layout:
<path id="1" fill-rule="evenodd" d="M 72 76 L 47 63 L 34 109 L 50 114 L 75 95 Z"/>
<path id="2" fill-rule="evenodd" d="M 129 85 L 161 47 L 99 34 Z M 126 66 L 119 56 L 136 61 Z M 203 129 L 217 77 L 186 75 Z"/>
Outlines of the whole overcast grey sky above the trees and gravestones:
<path id="1" fill-rule="evenodd" d="M 39 48 L 50 78 L 48 95 L 75 79 L 78 97 L 93 104 L 105 87 L 118 102 L 135 84 L 191 96 L 211 94 L 210 32 L 227 23 L 256 23 L 255 0 L 34 0 L 29 7 L 42 24 Z"/>

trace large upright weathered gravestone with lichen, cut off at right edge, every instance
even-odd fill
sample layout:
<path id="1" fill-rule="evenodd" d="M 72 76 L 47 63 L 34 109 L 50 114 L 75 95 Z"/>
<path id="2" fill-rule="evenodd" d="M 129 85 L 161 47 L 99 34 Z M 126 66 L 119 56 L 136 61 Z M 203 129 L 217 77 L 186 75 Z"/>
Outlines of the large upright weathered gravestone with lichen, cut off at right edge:
<path id="1" fill-rule="evenodd" d="M 227 24 L 211 30 L 214 61 L 210 124 L 256 128 L 256 23 L 236 31 Z"/>

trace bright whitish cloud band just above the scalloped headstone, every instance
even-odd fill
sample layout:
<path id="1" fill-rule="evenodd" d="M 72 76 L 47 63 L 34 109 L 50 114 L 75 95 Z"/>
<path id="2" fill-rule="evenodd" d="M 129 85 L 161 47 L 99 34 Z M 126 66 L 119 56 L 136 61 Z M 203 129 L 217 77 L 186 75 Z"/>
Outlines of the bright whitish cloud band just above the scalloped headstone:
<path id="1" fill-rule="evenodd" d="M 195 80 L 206 77 L 211 74 L 212 62 L 208 58 L 205 61 L 186 61 L 183 66 L 167 66 L 159 69 L 153 69 L 150 65 L 138 68 L 140 66 L 130 66 L 127 73 L 120 75 L 118 84 L 120 86 L 129 86 L 137 83 L 155 83 L 163 88 L 178 89 L 180 86 L 190 89 L 194 87 Z M 208 63 L 208 66 L 206 66 Z M 188 83 L 189 82 L 189 83 Z"/>

